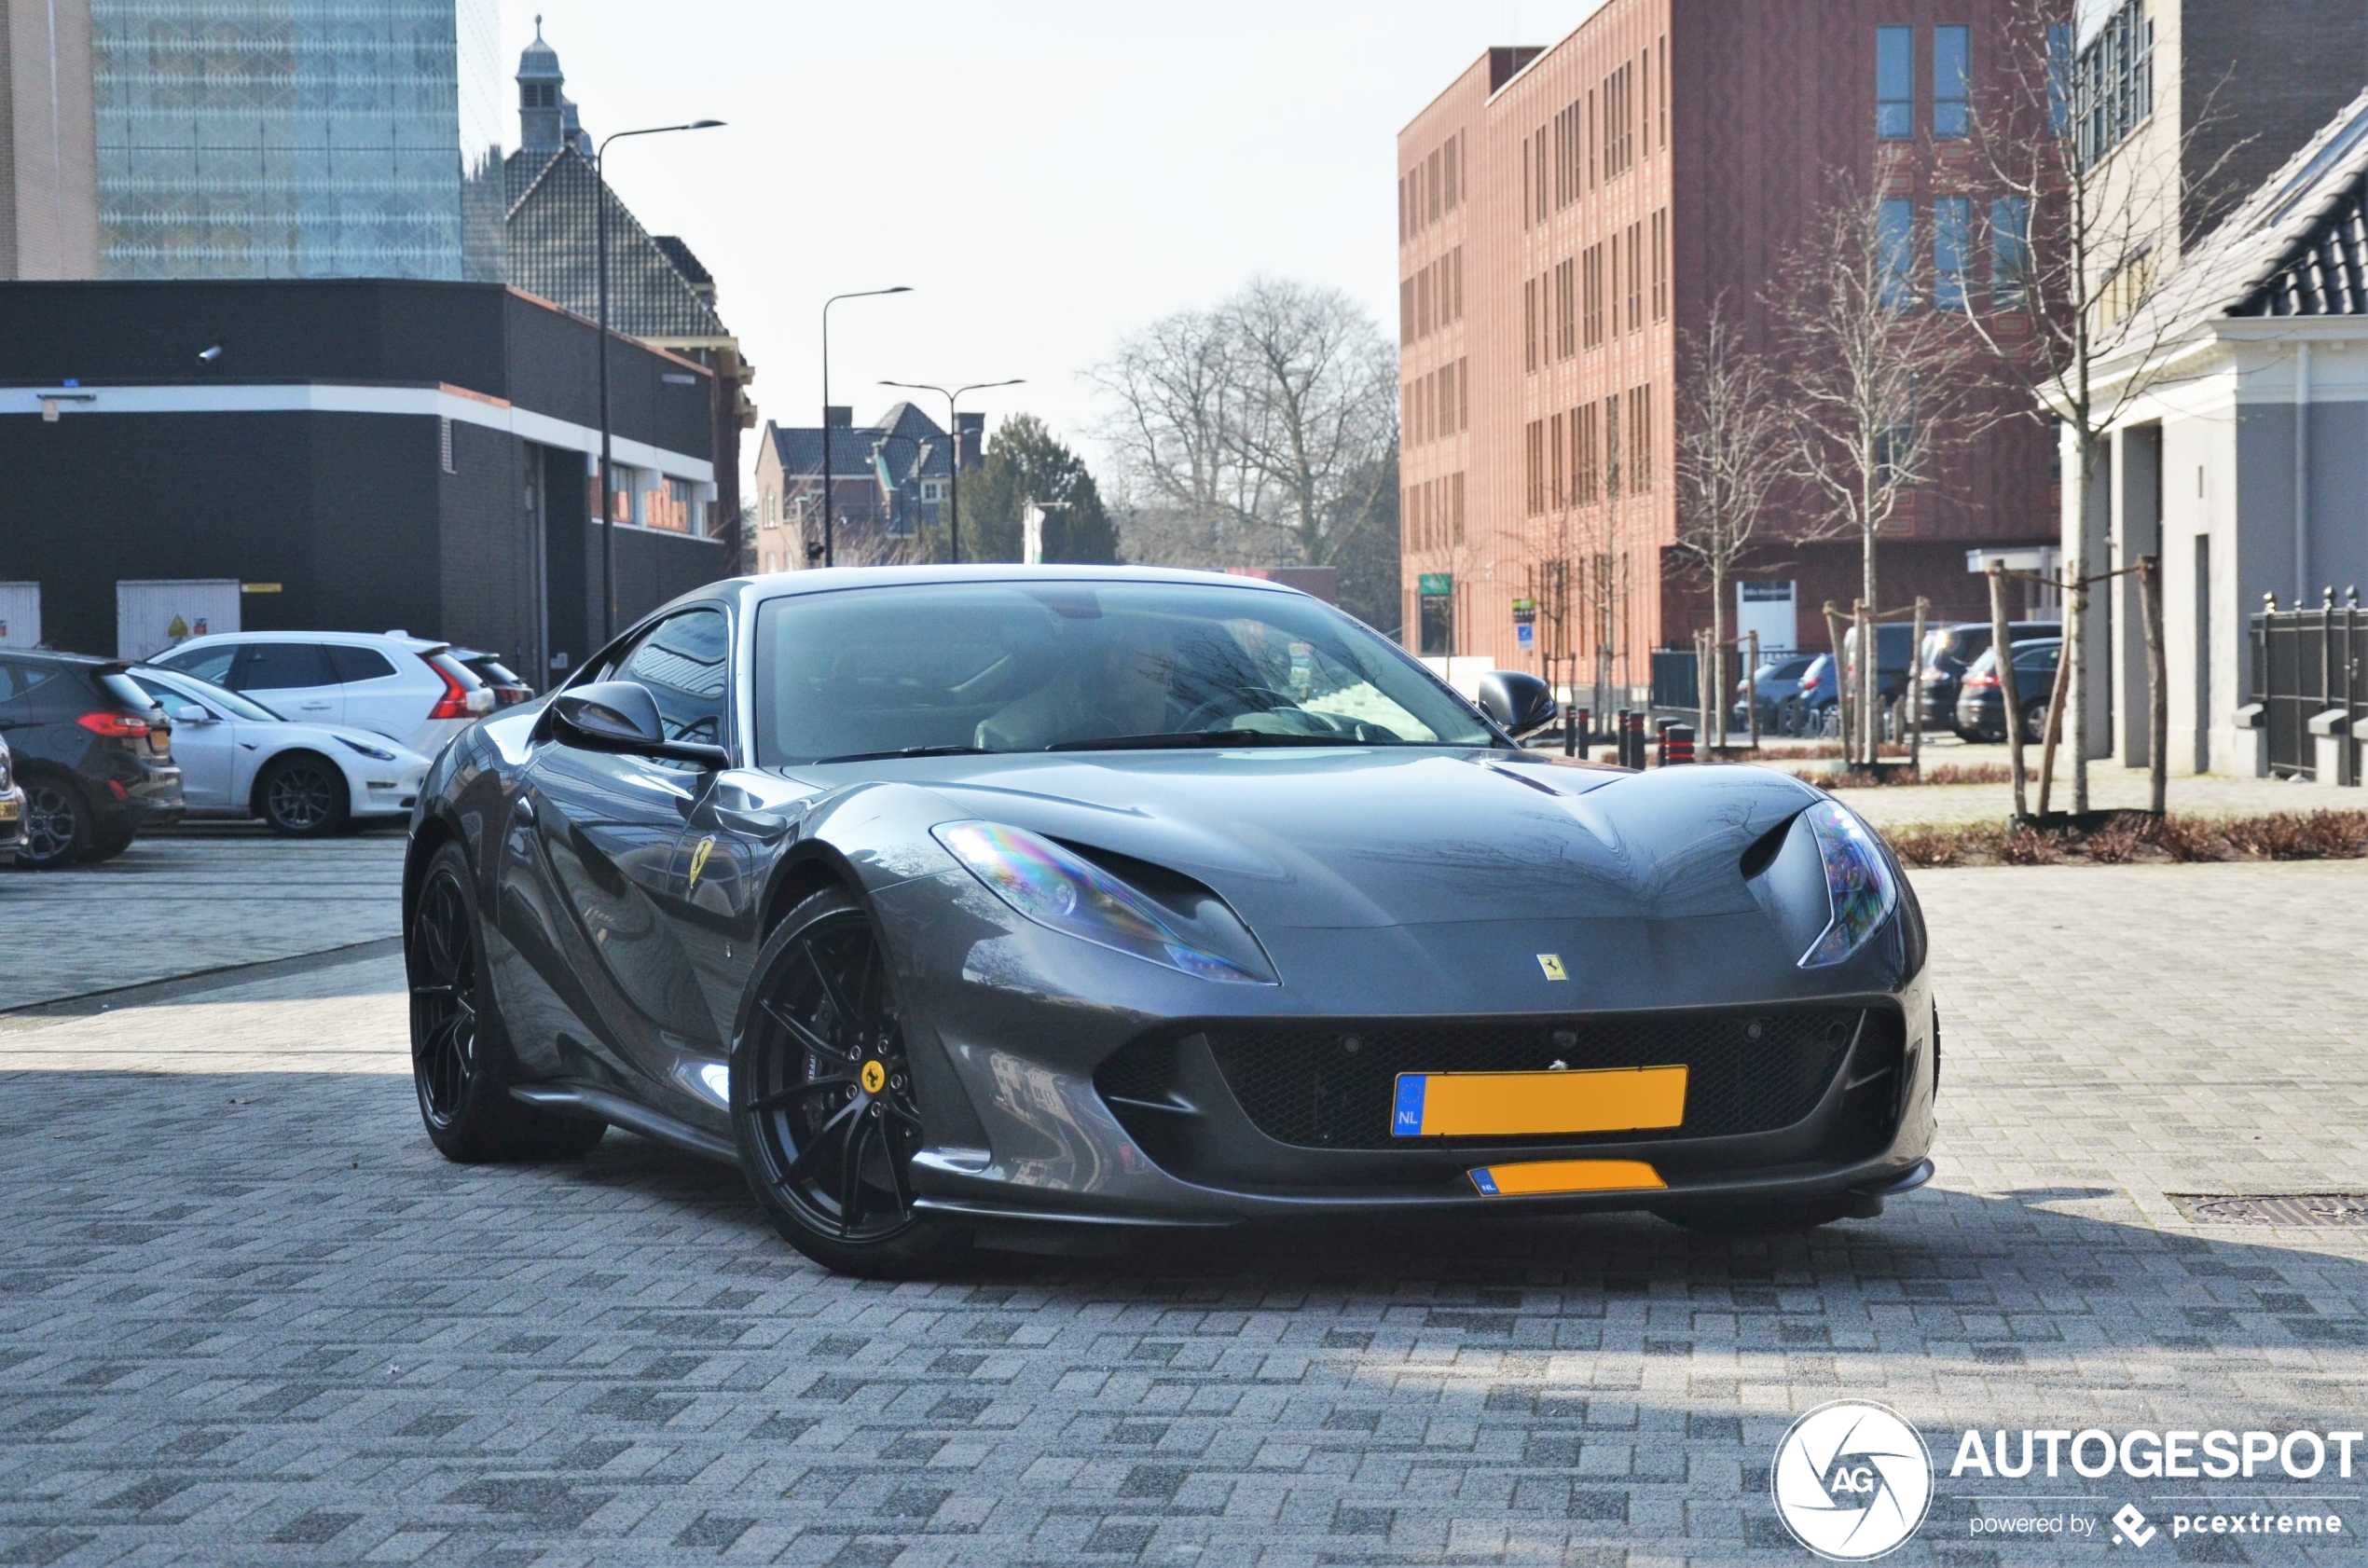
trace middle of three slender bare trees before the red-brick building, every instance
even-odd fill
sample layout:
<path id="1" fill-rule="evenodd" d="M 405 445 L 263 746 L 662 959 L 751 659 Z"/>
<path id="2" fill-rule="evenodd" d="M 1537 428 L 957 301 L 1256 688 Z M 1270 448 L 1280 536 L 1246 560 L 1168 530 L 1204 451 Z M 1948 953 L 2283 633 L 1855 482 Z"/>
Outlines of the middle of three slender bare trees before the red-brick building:
<path id="1" fill-rule="evenodd" d="M 1880 611 L 1875 545 L 1916 486 L 1935 478 L 1946 450 L 1980 426 L 1977 360 L 1961 317 L 1935 310 L 1930 223 L 1913 204 L 1838 178 L 1785 261 L 1778 320 L 1790 358 L 1797 474 L 1823 500 L 1804 538 L 1859 540 L 1859 597 Z M 1845 744 L 1875 758 L 1878 658 L 1857 654 L 1859 734 Z M 1840 675 L 1840 670 L 1838 670 Z"/>

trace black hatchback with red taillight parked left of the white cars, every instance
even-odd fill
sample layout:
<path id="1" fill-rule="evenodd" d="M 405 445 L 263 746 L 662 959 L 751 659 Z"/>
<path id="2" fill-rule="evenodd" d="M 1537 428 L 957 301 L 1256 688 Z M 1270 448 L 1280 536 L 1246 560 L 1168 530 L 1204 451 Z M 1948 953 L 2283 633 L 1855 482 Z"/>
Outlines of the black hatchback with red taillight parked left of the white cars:
<path id="1" fill-rule="evenodd" d="M 116 658 L 0 651 L 0 734 L 24 789 L 17 865 L 111 860 L 182 815 L 173 725 Z"/>

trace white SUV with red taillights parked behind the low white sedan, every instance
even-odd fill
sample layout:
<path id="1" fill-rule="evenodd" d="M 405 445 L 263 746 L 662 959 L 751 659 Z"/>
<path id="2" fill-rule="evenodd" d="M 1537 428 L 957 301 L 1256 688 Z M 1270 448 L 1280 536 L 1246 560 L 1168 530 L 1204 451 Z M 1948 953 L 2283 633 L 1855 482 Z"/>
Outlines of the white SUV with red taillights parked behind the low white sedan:
<path id="1" fill-rule="evenodd" d="M 215 632 L 149 663 L 225 687 L 298 725 L 348 725 L 419 756 L 493 713 L 485 677 L 448 642 L 405 632 Z"/>

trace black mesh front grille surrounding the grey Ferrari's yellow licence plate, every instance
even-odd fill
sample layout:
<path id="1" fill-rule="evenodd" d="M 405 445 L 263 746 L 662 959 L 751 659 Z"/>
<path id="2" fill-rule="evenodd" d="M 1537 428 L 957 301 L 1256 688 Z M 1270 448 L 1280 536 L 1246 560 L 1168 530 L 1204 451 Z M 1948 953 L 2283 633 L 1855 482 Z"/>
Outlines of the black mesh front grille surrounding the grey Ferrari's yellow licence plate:
<path id="1" fill-rule="evenodd" d="M 1643 1142 L 1790 1127 L 1823 1097 L 1866 1009 L 1617 1014 L 1473 1023 L 1224 1023 L 1205 1030 L 1227 1087 L 1260 1132 L 1302 1149 L 1409 1149 L 1468 1139 L 1390 1137 L 1399 1073 L 1537 1073 L 1686 1066 L 1686 1120 Z M 1179 1040 L 1139 1040 L 1096 1073 L 1103 1094 L 1158 1101 Z M 1492 1144 L 1572 1142 L 1485 1139 Z"/>

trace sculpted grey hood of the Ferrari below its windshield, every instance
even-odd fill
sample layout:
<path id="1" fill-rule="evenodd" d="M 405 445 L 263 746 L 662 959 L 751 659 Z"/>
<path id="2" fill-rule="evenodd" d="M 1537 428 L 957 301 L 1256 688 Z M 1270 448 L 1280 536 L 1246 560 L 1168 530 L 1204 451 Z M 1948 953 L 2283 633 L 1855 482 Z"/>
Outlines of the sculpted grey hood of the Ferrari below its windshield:
<path id="1" fill-rule="evenodd" d="M 947 820 L 1184 872 L 1262 931 L 1750 914 L 1743 850 L 1819 798 L 1762 767 L 1433 748 L 940 758 L 895 779 Z"/>

